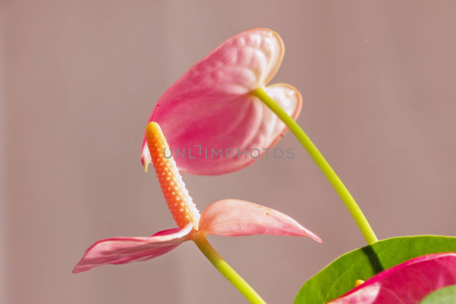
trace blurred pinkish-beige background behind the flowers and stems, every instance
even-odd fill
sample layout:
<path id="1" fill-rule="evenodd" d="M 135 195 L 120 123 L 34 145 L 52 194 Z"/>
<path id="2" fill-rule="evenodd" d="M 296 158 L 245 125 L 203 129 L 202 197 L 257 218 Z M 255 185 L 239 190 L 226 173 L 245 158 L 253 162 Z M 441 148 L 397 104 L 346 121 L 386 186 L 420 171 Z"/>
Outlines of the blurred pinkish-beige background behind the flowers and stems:
<path id="1" fill-rule="evenodd" d="M 299 88 L 299 123 L 379 238 L 455 235 L 455 1 L 0 1 L 0 303 L 245 303 L 191 243 L 72 274 L 84 250 L 174 223 L 140 165 L 161 94 L 228 37 L 285 41 L 273 82 Z M 291 134 L 292 160 L 185 175 L 200 210 L 222 198 L 283 211 L 323 244 L 210 237 L 268 303 L 364 241 Z"/>

